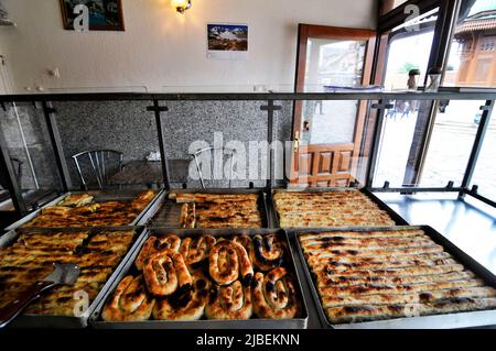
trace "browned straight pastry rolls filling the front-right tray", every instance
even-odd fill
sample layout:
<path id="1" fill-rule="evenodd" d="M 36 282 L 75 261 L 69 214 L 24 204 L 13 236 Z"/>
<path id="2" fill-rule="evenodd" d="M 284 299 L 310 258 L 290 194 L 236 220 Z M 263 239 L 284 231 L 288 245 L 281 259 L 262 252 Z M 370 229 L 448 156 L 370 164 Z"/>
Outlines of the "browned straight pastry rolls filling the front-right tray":
<path id="1" fill-rule="evenodd" d="M 496 290 L 422 230 L 299 238 L 331 323 L 496 308 Z"/>

